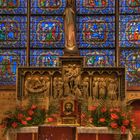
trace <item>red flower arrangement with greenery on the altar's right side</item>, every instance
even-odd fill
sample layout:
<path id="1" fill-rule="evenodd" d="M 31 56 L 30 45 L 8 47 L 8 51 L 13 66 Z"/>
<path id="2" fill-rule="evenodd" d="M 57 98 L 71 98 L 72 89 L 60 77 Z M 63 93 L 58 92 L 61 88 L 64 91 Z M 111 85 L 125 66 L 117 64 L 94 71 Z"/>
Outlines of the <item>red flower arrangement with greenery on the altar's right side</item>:
<path id="1" fill-rule="evenodd" d="M 132 132 L 136 129 L 130 106 L 111 106 L 107 102 L 89 105 L 87 110 L 81 113 L 81 122 L 82 125 L 121 130 L 123 134 L 126 129 Z"/>

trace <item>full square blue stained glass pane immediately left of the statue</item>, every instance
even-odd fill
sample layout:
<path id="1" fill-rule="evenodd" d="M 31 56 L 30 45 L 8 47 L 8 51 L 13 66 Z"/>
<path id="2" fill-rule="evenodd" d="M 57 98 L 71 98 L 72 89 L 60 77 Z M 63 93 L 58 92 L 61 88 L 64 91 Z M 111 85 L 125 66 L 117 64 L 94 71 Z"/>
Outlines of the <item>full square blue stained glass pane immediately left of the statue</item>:
<path id="1" fill-rule="evenodd" d="M 63 48 L 64 29 L 62 17 L 32 17 L 31 47 Z"/>

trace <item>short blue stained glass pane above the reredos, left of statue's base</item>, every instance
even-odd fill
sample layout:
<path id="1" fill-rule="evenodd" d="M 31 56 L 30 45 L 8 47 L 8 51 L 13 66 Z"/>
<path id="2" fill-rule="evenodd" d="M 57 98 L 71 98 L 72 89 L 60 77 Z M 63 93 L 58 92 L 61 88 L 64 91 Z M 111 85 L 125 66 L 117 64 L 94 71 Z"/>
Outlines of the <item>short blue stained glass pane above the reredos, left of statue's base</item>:
<path id="1" fill-rule="evenodd" d="M 63 55 L 62 50 L 31 50 L 31 66 L 56 67 L 59 65 L 59 56 Z"/>

